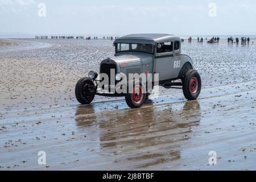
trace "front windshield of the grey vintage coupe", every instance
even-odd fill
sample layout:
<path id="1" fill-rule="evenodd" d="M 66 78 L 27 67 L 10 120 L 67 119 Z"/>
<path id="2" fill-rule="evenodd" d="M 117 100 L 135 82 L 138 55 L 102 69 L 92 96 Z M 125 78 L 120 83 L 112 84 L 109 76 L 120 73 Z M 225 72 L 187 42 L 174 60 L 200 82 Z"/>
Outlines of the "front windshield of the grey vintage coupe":
<path id="1" fill-rule="evenodd" d="M 117 53 L 135 51 L 135 52 L 146 52 L 146 53 L 154 54 L 154 46 L 152 44 L 117 43 L 115 44 L 115 50 Z"/>

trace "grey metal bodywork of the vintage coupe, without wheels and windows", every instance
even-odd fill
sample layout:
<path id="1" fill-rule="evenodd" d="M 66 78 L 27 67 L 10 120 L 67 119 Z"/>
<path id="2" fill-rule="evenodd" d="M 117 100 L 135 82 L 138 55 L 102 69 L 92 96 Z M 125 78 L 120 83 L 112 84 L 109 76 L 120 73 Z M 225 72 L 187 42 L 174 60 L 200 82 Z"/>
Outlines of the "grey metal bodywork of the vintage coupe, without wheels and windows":
<path id="1" fill-rule="evenodd" d="M 117 52 L 117 45 L 121 44 L 151 44 L 154 52 Z M 172 46 L 170 52 L 157 52 L 158 44 L 169 43 Z M 183 72 L 184 67 L 193 69 L 191 57 L 181 54 L 181 39 L 168 34 L 132 34 L 126 35 L 114 41 L 116 49 L 115 57 L 101 62 L 100 73 L 106 73 L 106 67 L 114 68 L 116 73 L 158 73 L 160 83 L 176 80 Z M 108 71 L 107 71 L 108 72 Z M 109 74 L 109 73 L 107 73 Z"/>

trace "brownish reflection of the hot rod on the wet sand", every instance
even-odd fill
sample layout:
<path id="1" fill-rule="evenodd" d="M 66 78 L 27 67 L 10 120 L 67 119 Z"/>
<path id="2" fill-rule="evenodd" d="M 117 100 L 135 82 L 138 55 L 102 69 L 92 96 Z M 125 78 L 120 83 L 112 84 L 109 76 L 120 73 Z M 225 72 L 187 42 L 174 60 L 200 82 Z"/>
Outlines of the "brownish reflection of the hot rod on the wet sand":
<path id="1" fill-rule="evenodd" d="M 108 159 L 113 163 L 135 169 L 180 159 L 180 146 L 189 142 L 200 119 L 197 101 L 161 106 L 147 101 L 141 109 L 103 113 L 94 112 L 93 106 L 79 106 L 76 111 L 79 130 L 95 130 L 100 146 L 97 154 L 112 156 Z"/>

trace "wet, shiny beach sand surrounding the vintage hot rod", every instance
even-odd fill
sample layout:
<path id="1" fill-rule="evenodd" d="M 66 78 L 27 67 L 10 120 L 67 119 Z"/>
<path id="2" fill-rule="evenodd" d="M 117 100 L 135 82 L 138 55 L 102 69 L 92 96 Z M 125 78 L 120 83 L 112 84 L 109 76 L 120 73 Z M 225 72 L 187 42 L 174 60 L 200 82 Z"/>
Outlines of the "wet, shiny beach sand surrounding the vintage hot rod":
<path id="1" fill-rule="evenodd" d="M 114 55 L 110 40 L 0 43 L 0 170 L 256 169 L 254 45 L 184 43 L 203 79 L 199 100 L 161 89 L 134 110 L 122 98 L 75 99 L 76 81 Z"/>

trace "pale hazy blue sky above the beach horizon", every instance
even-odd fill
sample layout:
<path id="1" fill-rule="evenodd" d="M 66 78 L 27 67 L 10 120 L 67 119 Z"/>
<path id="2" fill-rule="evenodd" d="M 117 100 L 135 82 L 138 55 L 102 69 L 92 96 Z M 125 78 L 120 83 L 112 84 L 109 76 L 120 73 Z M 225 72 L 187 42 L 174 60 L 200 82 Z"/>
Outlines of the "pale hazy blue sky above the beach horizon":
<path id="1" fill-rule="evenodd" d="M 255 17 L 255 0 L 0 0 L 0 34 L 256 35 Z"/>

